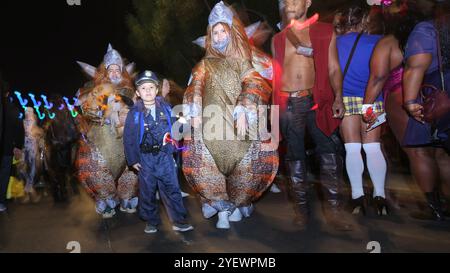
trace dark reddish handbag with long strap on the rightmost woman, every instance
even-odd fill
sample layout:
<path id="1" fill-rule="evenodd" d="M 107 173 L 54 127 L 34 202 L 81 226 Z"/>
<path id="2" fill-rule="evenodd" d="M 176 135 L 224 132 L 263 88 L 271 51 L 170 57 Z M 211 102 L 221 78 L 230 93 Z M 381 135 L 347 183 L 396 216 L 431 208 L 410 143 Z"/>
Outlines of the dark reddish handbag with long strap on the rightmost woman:
<path id="1" fill-rule="evenodd" d="M 442 65 L 439 32 L 437 32 L 436 37 L 437 37 L 437 51 L 438 51 L 437 56 L 439 62 L 439 74 L 442 89 L 430 84 L 424 84 L 420 89 L 424 120 L 429 123 L 435 123 L 446 113 L 450 112 L 450 98 L 445 88 L 444 69 Z"/>

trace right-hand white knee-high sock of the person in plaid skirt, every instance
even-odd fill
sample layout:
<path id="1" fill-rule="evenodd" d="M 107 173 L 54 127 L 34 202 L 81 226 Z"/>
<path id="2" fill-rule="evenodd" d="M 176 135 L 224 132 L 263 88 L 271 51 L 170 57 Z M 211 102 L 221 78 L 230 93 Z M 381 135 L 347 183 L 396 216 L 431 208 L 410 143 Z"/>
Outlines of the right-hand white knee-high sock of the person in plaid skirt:
<path id="1" fill-rule="evenodd" d="M 368 143 L 363 145 L 367 156 L 367 168 L 374 187 L 374 197 L 380 196 L 386 198 L 385 183 L 387 164 L 381 151 L 380 143 Z"/>

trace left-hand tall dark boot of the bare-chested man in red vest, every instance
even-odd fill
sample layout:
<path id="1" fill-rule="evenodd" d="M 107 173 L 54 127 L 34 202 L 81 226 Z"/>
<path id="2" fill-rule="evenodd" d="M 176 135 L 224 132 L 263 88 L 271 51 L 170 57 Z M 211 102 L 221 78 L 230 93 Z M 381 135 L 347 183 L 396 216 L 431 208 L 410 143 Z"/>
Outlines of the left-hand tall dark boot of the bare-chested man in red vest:
<path id="1" fill-rule="evenodd" d="M 294 201 L 294 224 L 305 229 L 308 223 L 308 191 L 305 161 L 287 161 L 289 170 L 289 193 Z"/>

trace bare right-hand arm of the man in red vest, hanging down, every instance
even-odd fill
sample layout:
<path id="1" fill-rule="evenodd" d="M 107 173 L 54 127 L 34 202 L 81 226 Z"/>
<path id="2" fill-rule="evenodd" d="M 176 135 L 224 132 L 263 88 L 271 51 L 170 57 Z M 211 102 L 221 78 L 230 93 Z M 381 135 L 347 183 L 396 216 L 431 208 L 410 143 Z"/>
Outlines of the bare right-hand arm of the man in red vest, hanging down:
<path id="1" fill-rule="evenodd" d="M 336 33 L 333 33 L 328 52 L 328 75 L 335 95 L 333 104 L 334 118 L 343 118 L 345 114 L 345 106 L 342 98 L 343 78 L 336 45 Z"/>

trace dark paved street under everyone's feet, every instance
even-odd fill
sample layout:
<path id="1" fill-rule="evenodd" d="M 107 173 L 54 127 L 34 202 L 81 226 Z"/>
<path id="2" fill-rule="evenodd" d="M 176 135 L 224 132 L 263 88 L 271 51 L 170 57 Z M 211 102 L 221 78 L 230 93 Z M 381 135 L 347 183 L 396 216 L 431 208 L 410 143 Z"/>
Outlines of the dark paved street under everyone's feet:
<path id="1" fill-rule="evenodd" d="M 195 231 L 187 234 L 171 230 L 164 210 L 164 225 L 154 235 L 144 234 L 145 223 L 137 215 L 118 212 L 114 219 L 102 220 L 84 193 L 67 204 L 54 204 L 49 196 L 39 204 L 11 203 L 9 212 L 0 215 L 0 252 L 66 253 L 71 241 L 79 242 L 82 252 L 96 253 L 358 253 L 369 252 L 371 241 L 379 242 L 382 252 L 450 252 L 450 221 L 411 217 L 424 203 L 408 174 L 389 175 L 392 214 L 379 218 L 371 209 L 366 217 L 348 215 L 355 226 L 352 232 L 336 232 L 325 224 L 315 194 L 310 226 L 300 232 L 292 224 L 285 183 L 277 183 L 283 193 L 268 192 L 256 204 L 253 217 L 232 224 L 228 231 L 215 228 L 217 218 L 204 220 L 192 195 L 185 203 Z"/>

